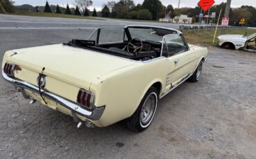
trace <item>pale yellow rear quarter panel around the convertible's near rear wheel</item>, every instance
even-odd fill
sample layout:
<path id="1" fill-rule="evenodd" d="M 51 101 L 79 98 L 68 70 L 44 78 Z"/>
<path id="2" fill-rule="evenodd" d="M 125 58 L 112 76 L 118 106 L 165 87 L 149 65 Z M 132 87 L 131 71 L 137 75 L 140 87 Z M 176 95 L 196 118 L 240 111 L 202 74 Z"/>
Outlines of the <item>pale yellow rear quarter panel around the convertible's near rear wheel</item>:
<path id="1" fill-rule="evenodd" d="M 165 85 L 167 59 L 163 57 L 150 63 L 140 63 L 122 68 L 100 77 L 91 84 L 91 91 L 100 92 L 97 103 L 106 108 L 100 118 L 102 126 L 108 126 L 129 118 L 137 109 L 150 86 L 156 82 Z M 100 86 L 101 85 L 101 86 Z M 107 90 L 107 91 L 106 91 Z"/>

